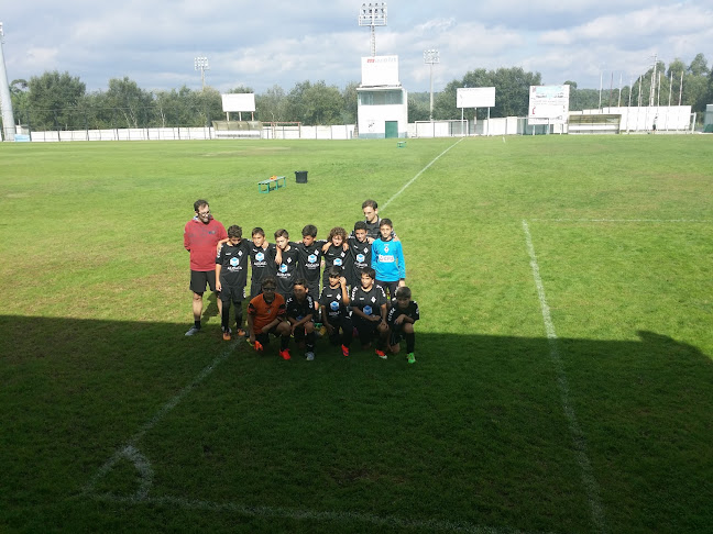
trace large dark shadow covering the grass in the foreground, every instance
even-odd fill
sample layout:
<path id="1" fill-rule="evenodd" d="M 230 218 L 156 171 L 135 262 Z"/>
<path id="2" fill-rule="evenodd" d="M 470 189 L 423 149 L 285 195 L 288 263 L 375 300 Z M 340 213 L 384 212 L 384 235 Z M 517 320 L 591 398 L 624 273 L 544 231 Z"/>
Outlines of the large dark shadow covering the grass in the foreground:
<path id="1" fill-rule="evenodd" d="M 418 333 L 409 366 L 185 330 L 0 316 L 0 525 L 595 530 L 545 338 Z M 711 358 L 651 332 L 557 344 L 606 527 L 713 524 Z M 149 481 L 135 458 L 98 475 L 128 444 Z"/>

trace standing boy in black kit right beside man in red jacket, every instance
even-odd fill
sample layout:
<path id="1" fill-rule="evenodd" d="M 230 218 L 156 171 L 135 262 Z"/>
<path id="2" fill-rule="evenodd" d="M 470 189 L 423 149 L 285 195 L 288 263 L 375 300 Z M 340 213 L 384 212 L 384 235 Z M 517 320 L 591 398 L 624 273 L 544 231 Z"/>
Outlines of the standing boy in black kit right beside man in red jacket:
<path id="1" fill-rule="evenodd" d="M 235 309 L 235 335 L 244 337 L 242 327 L 242 301 L 248 283 L 248 257 L 250 244 L 242 238 L 242 229 L 235 224 L 228 229 L 228 243 L 220 247 L 216 257 L 216 289 L 222 300 L 221 324 L 223 340 L 230 341 L 230 303 Z"/>

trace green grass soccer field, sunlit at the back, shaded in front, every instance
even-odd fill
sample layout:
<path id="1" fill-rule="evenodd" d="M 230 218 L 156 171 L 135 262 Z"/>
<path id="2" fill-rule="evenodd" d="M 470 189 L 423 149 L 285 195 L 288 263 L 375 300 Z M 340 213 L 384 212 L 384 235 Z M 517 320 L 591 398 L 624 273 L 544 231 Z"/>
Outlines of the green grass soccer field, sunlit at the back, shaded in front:
<path id="1" fill-rule="evenodd" d="M 0 531 L 711 532 L 712 162 L 663 135 L 0 145 Z M 376 199 L 417 364 L 257 356 L 215 300 L 184 336 L 197 198 L 293 237 Z"/>

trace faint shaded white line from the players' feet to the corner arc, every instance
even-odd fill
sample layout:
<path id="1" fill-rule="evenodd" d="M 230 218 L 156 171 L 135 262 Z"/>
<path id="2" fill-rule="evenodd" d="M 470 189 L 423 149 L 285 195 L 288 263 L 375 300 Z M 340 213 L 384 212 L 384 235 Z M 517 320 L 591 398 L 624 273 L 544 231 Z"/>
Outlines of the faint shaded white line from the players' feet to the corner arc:
<path id="1" fill-rule="evenodd" d="M 188 386 L 178 391 L 176 396 L 174 396 L 168 402 L 161 407 L 161 409 L 154 414 L 154 416 L 151 418 L 151 420 L 149 420 L 146 423 L 144 423 L 141 429 L 139 429 L 139 432 L 136 432 L 124 445 L 119 447 L 117 452 L 105 463 L 105 465 L 99 468 L 96 475 L 84 487 L 84 493 L 94 492 L 97 483 L 117 465 L 120 459 L 123 458 L 128 459 L 134 465 L 141 479 L 139 490 L 136 491 L 134 498 L 136 500 L 145 499 L 149 496 L 149 490 L 151 489 L 151 485 L 153 483 L 153 469 L 151 467 L 151 463 L 145 456 L 141 454 L 136 444 L 146 434 L 146 432 L 156 426 L 156 424 L 163 418 L 165 418 L 168 412 L 176 408 L 176 405 L 178 405 L 178 403 L 188 393 L 190 393 L 196 388 L 196 386 L 202 382 L 206 377 L 208 377 L 213 370 L 216 370 L 216 367 L 218 367 L 228 358 L 228 356 L 230 356 L 230 353 L 233 352 L 235 346 L 237 343 L 231 343 L 230 346 L 228 346 L 219 356 L 217 356 L 216 359 L 210 363 L 210 365 L 205 367 Z"/>

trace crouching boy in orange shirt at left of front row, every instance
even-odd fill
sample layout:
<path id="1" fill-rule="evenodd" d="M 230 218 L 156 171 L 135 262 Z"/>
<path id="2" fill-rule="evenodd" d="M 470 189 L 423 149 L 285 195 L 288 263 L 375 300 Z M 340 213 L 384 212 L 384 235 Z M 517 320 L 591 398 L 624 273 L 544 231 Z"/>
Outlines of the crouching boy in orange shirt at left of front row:
<path id="1" fill-rule="evenodd" d="M 270 334 L 279 336 L 279 356 L 289 359 L 286 351 L 289 342 L 289 323 L 285 319 L 285 299 L 275 292 L 277 280 L 266 276 L 262 280 L 262 292 L 248 304 L 248 329 L 250 344 L 255 351 L 263 352 L 270 344 Z"/>

